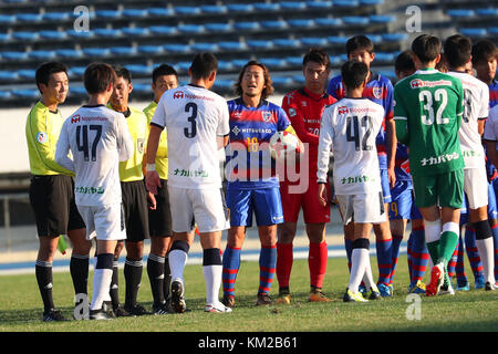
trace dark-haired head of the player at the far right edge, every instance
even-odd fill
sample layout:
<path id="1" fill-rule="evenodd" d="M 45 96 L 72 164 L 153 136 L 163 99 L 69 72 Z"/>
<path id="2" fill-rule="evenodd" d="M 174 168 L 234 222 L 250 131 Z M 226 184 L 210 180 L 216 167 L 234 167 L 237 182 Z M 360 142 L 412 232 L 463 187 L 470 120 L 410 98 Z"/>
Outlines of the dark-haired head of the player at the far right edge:
<path id="1" fill-rule="evenodd" d="M 498 49 L 489 40 L 480 40 L 473 46 L 473 65 L 477 77 L 490 84 L 496 75 Z"/>

